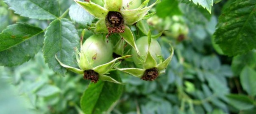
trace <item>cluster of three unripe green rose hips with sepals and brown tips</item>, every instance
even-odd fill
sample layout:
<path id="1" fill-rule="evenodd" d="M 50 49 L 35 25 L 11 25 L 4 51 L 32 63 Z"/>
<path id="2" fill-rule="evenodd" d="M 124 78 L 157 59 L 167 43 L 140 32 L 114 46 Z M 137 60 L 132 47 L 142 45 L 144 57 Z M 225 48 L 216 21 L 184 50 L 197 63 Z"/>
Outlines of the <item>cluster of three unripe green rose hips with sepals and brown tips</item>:
<path id="1" fill-rule="evenodd" d="M 94 35 L 90 36 L 83 42 L 81 39 L 81 49 L 77 49 L 76 57 L 79 68 L 64 65 L 61 66 L 70 71 L 83 75 L 84 79 L 97 82 L 111 81 L 120 83 L 111 76 L 107 76 L 109 71 L 119 70 L 139 77 L 146 81 L 153 81 L 159 74 L 165 73 L 165 68 L 170 63 L 173 56 L 171 55 L 164 60 L 161 56 L 161 46 L 156 39 L 151 38 L 151 32 L 147 36 L 142 36 L 134 40 L 134 34 L 129 26 L 136 24 L 148 14 L 148 11 L 159 2 L 147 6 L 149 0 L 141 3 L 141 0 L 95 0 L 79 1 L 74 0 L 78 5 L 83 7 L 87 12 L 95 16 L 98 21 L 94 26 Z M 83 30 L 83 34 L 86 30 Z M 118 35 L 120 38 L 113 44 L 109 36 Z M 130 49 L 125 43 L 128 43 Z M 128 51 L 127 51 L 128 50 Z M 130 55 L 129 55 L 130 54 Z M 113 58 L 113 55 L 114 58 Z M 120 62 L 131 57 L 136 68 L 119 68 Z"/>

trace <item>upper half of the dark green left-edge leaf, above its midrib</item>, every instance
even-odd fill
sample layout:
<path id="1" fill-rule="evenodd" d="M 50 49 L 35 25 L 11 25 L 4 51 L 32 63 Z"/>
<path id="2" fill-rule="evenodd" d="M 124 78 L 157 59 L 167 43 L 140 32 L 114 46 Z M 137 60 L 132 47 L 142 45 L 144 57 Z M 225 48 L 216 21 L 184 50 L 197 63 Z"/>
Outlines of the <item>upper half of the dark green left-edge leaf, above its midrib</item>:
<path id="1" fill-rule="evenodd" d="M 43 33 L 43 30 L 25 23 L 12 24 L 0 34 L 0 51 Z"/>

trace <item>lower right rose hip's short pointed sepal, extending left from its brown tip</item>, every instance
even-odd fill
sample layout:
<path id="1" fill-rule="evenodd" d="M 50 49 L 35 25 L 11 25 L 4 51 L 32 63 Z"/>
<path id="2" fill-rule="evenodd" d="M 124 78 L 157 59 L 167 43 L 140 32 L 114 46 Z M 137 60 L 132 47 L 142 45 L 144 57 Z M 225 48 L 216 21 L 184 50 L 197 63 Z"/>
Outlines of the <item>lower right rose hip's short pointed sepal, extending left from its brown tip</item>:
<path id="1" fill-rule="evenodd" d="M 145 69 L 140 69 L 140 68 L 116 68 L 119 71 L 125 72 L 125 73 L 129 73 L 135 77 L 142 77 Z"/>

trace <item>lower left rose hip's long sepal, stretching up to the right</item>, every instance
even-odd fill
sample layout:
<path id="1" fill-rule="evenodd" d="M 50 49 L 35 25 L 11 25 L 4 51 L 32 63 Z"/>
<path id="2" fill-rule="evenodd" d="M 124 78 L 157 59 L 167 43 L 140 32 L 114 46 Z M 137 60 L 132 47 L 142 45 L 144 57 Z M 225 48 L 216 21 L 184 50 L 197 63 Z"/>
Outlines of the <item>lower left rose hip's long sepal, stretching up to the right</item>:
<path id="1" fill-rule="evenodd" d="M 122 56 L 122 57 L 115 58 L 114 60 L 112 60 L 112 61 L 110 61 L 110 62 L 108 62 L 106 64 L 99 65 L 99 66 L 93 68 L 93 71 L 95 71 L 95 72 L 97 72 L 99 74 L 107 73 L 109 70 L 111 70 L 114 67 L 114 63 L 117 60 L 125 59 L 125 58 L 128 58 L 128 57 L 131 57 L 131 55 L 125 55 L 125 56 Z"/>

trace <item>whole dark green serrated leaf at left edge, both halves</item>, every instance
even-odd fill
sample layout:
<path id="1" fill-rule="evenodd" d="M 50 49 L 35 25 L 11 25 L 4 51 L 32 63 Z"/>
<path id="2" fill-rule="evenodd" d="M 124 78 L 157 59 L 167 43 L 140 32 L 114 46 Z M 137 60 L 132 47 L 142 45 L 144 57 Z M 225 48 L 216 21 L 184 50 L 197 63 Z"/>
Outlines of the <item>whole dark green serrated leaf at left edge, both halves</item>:
<path id="1" fill-rule="evenodd" d="M 26 29 L 22 29 L 22 27 Z M 0 65 L 21 65 L 22 63 L 27 62 L 28 60 L 33 58 L 35 54 L 39 52 L 43 45 L 44 33 L 41 29 L 37 27 L 19 23 L 9 26 L 5 31 L 6 32 L 0 33 L 0 39 L 2 41 L 5 40 L 6 42 L 8 42 L 8 44 L 5 44 L 6 42 L 0 41 L 0 45 L 6 45 L 9 47 L 12 43 L 12 45 L 15 44 L 15 46 L 12 46 L 11 48 L 0 52 Z M 33 35 L 31 35 L 30 33 L 33 33 Z M 17 38 L 22 38 L 22 36 L 28 35 L 29 38 L 23 40 L 22 42 L 19 42 L 21 41 L 21 39 L 19 39 L 18 41 L 10 39 L 12 35 L 17 36 Z M 3 49 L 3 46 L 0 46 L 0 48 Z"/>

